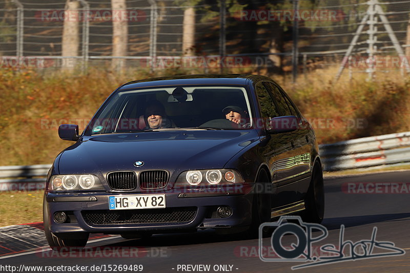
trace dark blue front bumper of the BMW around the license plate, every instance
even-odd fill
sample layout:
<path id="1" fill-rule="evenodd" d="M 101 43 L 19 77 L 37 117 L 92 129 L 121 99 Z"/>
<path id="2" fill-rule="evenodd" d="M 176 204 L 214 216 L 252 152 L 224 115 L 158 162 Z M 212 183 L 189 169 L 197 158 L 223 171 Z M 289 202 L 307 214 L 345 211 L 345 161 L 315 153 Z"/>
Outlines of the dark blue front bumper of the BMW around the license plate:
<path id="1" fill-rule="evenodd" d="M 132 213 L 142 212 L 145 209 L 127 209 L 125 211 L 109 211 L 109 196 L 115 195 L 145 195 L 147 193 L 118 193 L 118 192 L 94 192 L 94 193 L 76 193 L 76 194 L 54 194 L 46 193 L 46 209 L 49 217 L 49 229 L 52 233 L 105 233 L 105 234 L 122 234 L 122 233 L 165 233 L 165 232 L 183 232 L 184 230 L 204 229 L 204 228 L 231 228 L 242 227 L 251 224 L 252 219 L 252 192 L 253 185 L 244 185 L 241 191 L 215 193 L 198 193 L 187 191 L 170 191 L 161 192 L 166 195 L 168 211 L 178 209 L 195 208 L 194 215 L 189 221 L 182 222 L 151 222 L 151 223 L 114 223 L 110 224 L 95 223 L 90 221 L 89 214 L 104 214 L 101 217 L 111 217 L 114 212 Z M 151 193 L 154 194 L 154 193 Z M 155 193 L 157 194 L 157 193 Z M 216 212 L 219 206 L 230 206 L 232 215 L 226 218 L 220 218 Z M 163 208 L 150 209 L 153 214 L 160 215 L 164 212 Z M 68 223 L 56 223 L 53 215 L 56 212 L 66 212 L 70 215 Z M 105 214 L 107 212 L 107 214 Z M 156 215 L 156 217 L 158 217 Z M 85 217 L 86 216 L 86 217 Z M 148 216 L 149 217 L 149 216 Z"/>

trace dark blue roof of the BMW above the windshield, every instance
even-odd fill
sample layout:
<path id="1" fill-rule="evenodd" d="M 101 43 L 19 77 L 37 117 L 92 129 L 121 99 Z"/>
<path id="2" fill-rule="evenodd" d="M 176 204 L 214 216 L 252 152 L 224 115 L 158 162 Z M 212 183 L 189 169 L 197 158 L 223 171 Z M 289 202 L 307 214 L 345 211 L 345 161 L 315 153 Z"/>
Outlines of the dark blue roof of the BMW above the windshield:
<path id="1" fill-rule="evenodd" d="M 194 74 L 176 75 L 168 77 L 156 77 L 149 79 L 134 80 L 122 85 L 118 91 L 158 86 L 177 85 L 247 85 L 247 81 L 259 79 L 271 80 L 268 77 L 248 74 Z"/>

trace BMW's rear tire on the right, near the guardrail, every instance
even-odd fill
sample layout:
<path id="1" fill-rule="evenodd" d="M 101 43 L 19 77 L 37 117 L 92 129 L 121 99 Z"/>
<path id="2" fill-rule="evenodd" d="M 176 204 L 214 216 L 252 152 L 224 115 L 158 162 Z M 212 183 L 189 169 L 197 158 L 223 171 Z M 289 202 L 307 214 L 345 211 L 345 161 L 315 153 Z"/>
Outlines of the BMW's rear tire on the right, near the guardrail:
<path id="1" fill-rule="evenodd" d="M 305 210 L 301 213 L 303 222 L 320 224 L 324 215 L 324 184 L 322 166 L 315 162 L 312 179 L 305 198 Z"/>

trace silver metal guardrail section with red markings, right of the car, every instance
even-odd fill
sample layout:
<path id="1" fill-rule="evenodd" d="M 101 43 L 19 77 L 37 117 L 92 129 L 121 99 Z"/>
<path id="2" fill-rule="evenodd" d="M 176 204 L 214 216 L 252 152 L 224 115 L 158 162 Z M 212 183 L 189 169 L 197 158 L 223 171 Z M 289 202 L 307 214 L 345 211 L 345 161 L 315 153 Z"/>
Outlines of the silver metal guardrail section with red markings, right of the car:
<path id="1" fill-rule="evenodd" d="M 325 171 L 410 164 L 410 132 L 319 145 Z"/>

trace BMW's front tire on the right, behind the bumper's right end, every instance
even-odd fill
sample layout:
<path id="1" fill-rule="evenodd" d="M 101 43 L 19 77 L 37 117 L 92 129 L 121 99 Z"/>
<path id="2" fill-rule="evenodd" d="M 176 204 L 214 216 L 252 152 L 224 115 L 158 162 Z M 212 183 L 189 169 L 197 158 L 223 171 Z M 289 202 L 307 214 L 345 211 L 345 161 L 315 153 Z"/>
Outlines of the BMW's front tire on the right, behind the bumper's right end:
<path id="1" fill-rule="evenodd" d="M 262 193 L 258 191 L 261 188 L 263 189 Z M 259 171 L 258 178 L 256 179 L 255 193 L 252 201 L 252 223 L 248 230 L 248 235 L 251 238 L 259 237 L 259 226 L 262 223 L 271 222 L 271 195 L 264 192 L 267 188 L 271 188 L 271 184 L 267 172 L 262 169 Z M 264 230 L 264 232 L 266 231 Z"/>

